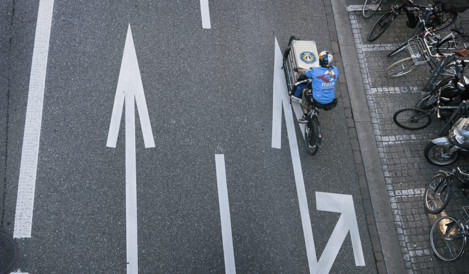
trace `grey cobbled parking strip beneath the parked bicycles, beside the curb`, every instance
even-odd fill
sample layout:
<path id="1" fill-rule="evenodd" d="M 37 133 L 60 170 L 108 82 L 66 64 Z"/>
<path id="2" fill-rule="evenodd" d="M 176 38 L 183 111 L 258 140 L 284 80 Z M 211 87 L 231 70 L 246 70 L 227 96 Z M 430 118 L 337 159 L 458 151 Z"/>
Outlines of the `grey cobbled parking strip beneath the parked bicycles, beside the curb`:
<path id="1" fill-rule="evenodd" d="M 444 123 L 433 119 L 429 127 L 409 131 L 398 127 L 392 121 L 396 110 L 414 106 L 424 95 L 420 88 L 429 75 L 429 67 L 422 65 L 408 75 L 387 78 L 384 74 L 386 67 L 409 57 L 407 51 L 402 51 L 392 58 L 386 57 L 392 49 L 410 36 L 411 29 L 405 25 L 405 16 L 398 17 L 381 38 L 371 43 L 366 40 L 366 36 L 379 15 L 365 20 L 359 12 L 350 11 L 349 18 L 382 175 L 406 271 L 466 272 L 469 266 L 467 255 L 455 262 L 439 260 L 431 250 L 429 234 L 432 224 L 439 216 L 458 216 L 462 205 L 466 205 L 469 198 L 464 197 L 457 189 L 453 190 L 446 210 L 437 215 L 427 214 L 422 203 L 427 182 L 440 169 L 427 163 L 423 156 L 423 148 L 436 137 Z M 460 20 L 463 19 L 458 18 L 456 25 Z M 404 93 L 402 90 L 408 92 Z M 461 159 L 454 166 L 467 167 L 468 164 L 467 160 Z M 367 179 L 368 184 L 374 183 L 368 173 Z M 381 244 L 385 243 L 382 241 Z M 386 262 L 388 272 L 392 272 L 387 264 Z"/>

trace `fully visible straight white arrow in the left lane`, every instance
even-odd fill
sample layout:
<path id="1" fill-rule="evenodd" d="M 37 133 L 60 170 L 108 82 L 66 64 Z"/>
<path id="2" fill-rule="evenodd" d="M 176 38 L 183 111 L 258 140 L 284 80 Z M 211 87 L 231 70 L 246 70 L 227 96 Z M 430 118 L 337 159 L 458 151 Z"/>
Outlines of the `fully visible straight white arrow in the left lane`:
<path id="1" fill-rule="evenodd" d="M 142 79 L 130 24 L 125 39 L 116 97 L 112 109 L 107 147 L 115 148 L 122 108 L 125 101 L 125 213 L 127 239 L 127 273 L 138 273 L 137 249 L 137 172 L 135 153 L 135 101 L 142 126 L 145 148 L 154 148 L 148 108 L 143 93 Z"/>

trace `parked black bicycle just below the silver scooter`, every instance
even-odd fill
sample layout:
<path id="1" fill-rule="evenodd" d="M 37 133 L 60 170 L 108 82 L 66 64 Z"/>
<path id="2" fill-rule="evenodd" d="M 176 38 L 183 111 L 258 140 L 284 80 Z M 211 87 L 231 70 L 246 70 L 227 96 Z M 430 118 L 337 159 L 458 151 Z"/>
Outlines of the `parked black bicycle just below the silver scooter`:
<path id="1" fill-rule="evenodd" d="M 469 173 L 461 171 L 459 168 L 448 172 L 440 170 L 438 174 L 430 179 L 425 188 L 423 194 L 425 210 L 431 214 L 438 214 L 443 211 L 451 199 L 453 186 L 461 188 L 464 196 L 467 196 Z"/>

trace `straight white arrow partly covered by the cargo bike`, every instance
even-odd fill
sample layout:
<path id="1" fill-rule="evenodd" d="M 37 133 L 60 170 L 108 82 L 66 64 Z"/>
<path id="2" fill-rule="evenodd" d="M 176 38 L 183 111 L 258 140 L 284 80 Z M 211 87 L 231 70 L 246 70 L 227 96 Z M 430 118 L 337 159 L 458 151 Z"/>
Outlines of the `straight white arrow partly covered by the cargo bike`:
<path id="1" fill-rule="evenodd" d="M 274 113 L 272 116 L 272 147 L 280 149 L 281 127 L 282 127 L 282 108 L 285 112 L 285 121 L 287 123 L 288 141 L 290 153 L 292 155 L 293 172 L 295 174 L 295 184 L 300 205 L 301 223 L 306 244 L 306 255 L 310 272 L 313 273 L 316 268 L 317 257 L 314 247 L 313 231 L 309 216 L 308 200 L 306 199 L 305 182 L 303 180 L 303 171 L 301 170 L 300 153 L 298 151 L 298 142 L 296 139 L 295 123 L 293 121 L 292 108 L 288 98 L 287 84 L 282 67 L 282 51 L 280 50 L 277 38 L 275 39 L 275 61 L 274 61 Z M 280 103 L 282 102 L 282 104 Z M 304 131 L 304 130 L 303 130 Z"/>

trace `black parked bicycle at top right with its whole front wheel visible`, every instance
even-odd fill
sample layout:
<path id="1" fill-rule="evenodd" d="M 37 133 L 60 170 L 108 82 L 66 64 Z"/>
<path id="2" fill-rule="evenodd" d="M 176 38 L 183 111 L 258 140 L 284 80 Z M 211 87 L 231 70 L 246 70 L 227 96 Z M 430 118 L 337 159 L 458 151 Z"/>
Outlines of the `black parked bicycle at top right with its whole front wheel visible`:
<path id="1" fill-rule="evenodd" d="M 415 15 L 414 12 L 420 13 Z M 440 32 L 449 28 L 456 21 L 457 13 L 441 10 L 441 4 L 434 6 L 421 6 L 413 4 L 413 0 L 405 0 L 401 5 L 392 5 L 391 10 L 383 14 L 373 25 L 368 33 L 368 41 L 372 42 L 381 37 L 391 26 L 391 23 L 400 14 L 407 16 L 407 26 L 414 29 L 411 36 L 414 36 L 423 26 L 431 26 L 434 32 Z M 417 18 L 419 18 L 417 20 Z M 425 24 L 421 24 L 425 22 Z"/>

